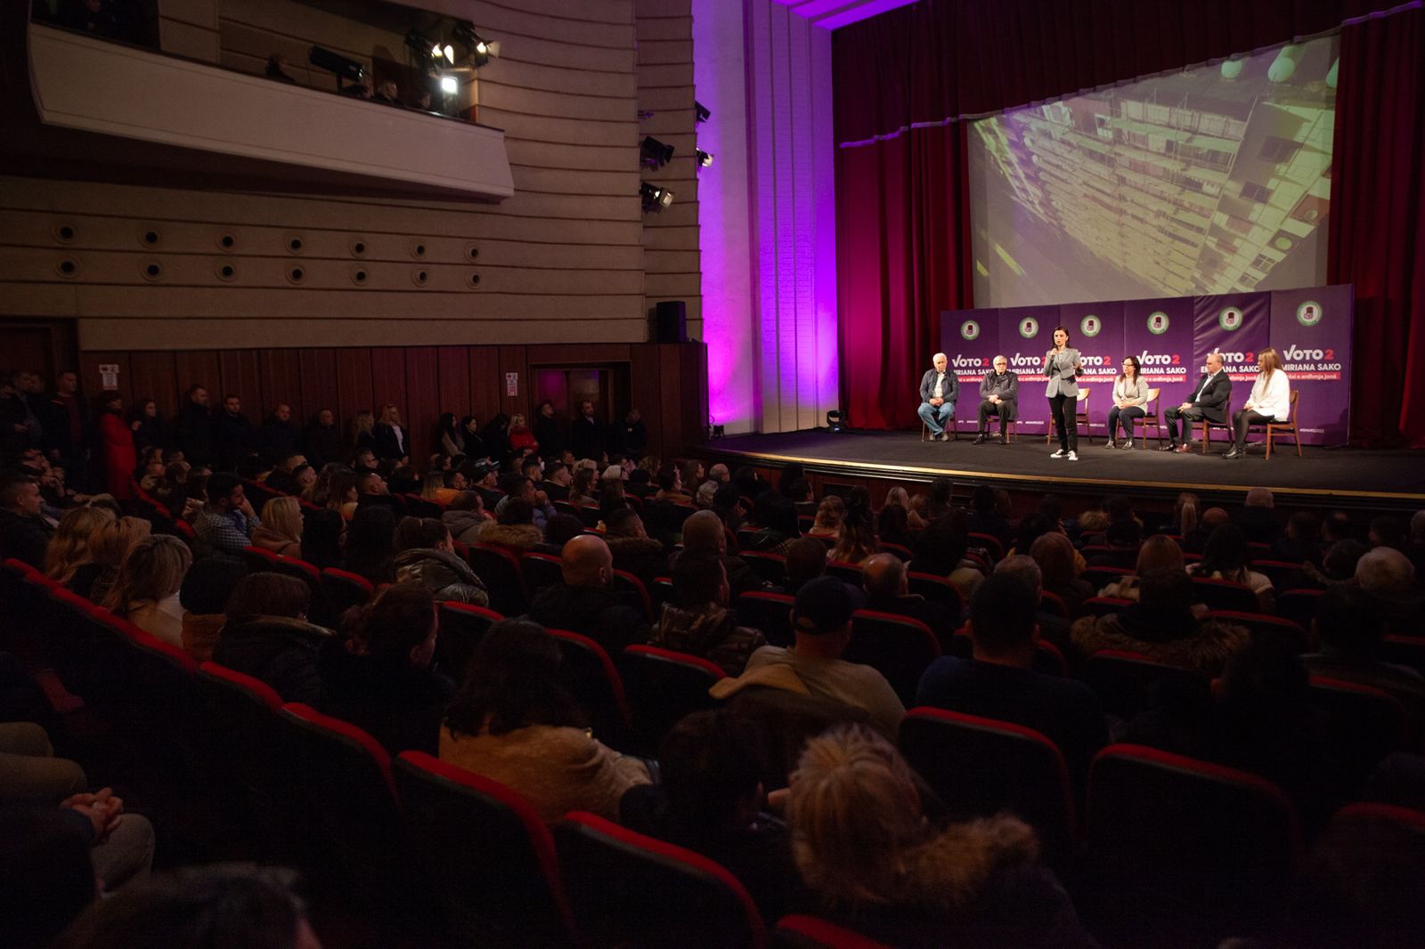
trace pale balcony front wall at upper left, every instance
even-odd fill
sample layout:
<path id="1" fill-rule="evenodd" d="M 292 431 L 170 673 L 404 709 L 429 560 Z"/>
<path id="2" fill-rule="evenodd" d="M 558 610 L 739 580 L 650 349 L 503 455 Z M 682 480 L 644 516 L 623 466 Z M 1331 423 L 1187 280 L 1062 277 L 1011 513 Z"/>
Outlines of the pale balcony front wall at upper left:
<path id="1" fill-rule="evenodd" d="M 288 188 L 321 182 L 483 201 L 514 192 L 497 128 L 36 23 L 28 26 L 28 74 L 38 128 L 19 138 L 31 158 L 73 162 L 103 154 L 111 162 L 219 170 Z"/>

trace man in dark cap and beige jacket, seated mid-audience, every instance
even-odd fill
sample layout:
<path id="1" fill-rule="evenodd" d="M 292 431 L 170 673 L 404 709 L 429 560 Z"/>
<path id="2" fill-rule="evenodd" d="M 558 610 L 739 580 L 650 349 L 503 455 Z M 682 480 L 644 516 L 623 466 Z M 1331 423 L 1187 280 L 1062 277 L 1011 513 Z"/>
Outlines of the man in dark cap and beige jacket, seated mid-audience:
<path id="1" fill-rule="evenodd" d="M 752 653 L 747 671 L 787 665 L 812 695 L 864 708 L 876 731 L 893 741 L 905 705 L 891 683 L 869 665 L 841 658 L 851 643 L 851 614 L 858 598 L 855 587 L 835 577 L 812 580 L 797 593 L 792 606 L 792 647 L 764 645 Z"/>

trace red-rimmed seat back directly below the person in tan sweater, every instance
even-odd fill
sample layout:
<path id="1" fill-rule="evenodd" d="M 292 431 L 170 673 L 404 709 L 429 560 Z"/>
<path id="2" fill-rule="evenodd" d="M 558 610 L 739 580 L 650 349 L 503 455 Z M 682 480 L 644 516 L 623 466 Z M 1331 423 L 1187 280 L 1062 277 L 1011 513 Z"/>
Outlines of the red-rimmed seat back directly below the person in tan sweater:
<path id="1" fill-rule="evenodd" d="M 410 846 L 463 945 L 577 945 L 554 838 L 497 781 L 405 751 L 393 767 Z"/>

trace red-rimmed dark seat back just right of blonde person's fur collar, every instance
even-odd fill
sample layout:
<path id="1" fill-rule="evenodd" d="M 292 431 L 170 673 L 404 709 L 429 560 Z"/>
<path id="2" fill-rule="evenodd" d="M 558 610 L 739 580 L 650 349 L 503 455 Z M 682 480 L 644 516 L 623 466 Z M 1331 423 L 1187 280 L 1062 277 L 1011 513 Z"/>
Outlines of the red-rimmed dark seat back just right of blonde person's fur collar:
<path id="1" fill-rule="evenodd" d="M 1116 906 L 1168 930 L 1216 932 L 1206 945 L 1275 922 L 1301 851 L 1295 808 L 1275 784 L 1144 745 L 1094 757 L 1086 826 Z"/>

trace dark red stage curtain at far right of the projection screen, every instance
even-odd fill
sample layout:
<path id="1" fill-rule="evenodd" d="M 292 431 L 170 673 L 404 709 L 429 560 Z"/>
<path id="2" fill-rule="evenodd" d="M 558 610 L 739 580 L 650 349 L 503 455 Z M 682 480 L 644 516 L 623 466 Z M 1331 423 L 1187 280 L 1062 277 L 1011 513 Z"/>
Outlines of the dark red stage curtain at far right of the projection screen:
<path id="1" fill-rule="evenodd" d="M 1425 447 L 1425 11 L 1341 30 L 1328 268 L 1355 284 L 1352 445 Z"/>

